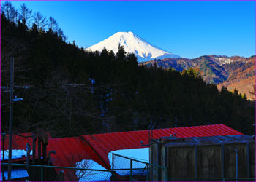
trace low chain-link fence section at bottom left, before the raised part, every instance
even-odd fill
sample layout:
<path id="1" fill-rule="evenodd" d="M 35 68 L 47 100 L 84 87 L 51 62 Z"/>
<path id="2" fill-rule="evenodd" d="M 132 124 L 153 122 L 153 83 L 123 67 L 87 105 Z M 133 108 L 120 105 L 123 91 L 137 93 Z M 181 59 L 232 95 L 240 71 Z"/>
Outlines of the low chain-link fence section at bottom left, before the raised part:
<path id="1" fill-rule="evenodd" d="M 8 180 L 7 165 L 1 163 L 1 181 L 115 181 L 116 179 L 113 170 L 12 164 L 11 180 Z"/>

